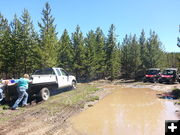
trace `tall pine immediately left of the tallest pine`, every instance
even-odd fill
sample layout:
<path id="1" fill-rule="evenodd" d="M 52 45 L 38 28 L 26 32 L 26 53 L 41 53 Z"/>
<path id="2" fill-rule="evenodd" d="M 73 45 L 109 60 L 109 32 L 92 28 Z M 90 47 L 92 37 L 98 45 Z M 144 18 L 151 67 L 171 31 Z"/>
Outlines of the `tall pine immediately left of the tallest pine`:
<path id="1" fill-rule="evenodd" d="M 23 11 L 21 16 L 22 23 L 22 71 L 23 73 L 31 73 L 35 69 L 39 68 L 39 58 L 38 55 L 38 35 L 34 30 L 31 17 L 27 10 Z"/>

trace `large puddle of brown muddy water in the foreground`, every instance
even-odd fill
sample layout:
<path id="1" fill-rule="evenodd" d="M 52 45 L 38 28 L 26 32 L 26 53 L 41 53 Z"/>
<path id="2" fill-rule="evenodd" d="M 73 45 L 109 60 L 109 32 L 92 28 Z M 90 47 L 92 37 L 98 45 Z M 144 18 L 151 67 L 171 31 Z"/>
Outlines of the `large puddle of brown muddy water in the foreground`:
<path id="1" fill-rule="evenodd" d="M 159 99 L 157 93 L 119 87 L 70 121 L 82 135 L 164 135 L 165 120 L 178 118 L 173 102 Z"/>

